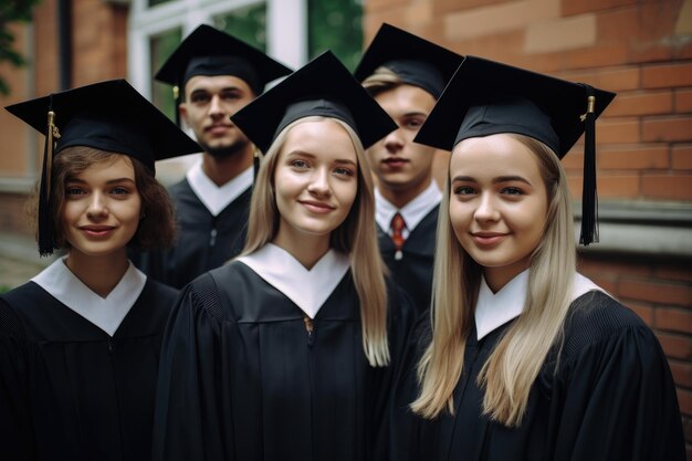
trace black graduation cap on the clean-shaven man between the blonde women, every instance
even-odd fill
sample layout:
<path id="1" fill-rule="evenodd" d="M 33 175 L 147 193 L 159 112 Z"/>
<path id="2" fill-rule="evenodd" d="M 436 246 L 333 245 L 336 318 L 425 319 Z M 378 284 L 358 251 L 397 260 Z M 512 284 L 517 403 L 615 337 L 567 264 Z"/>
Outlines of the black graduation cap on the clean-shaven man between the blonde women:
<path id="1" fill-rule="evenodd" d="M 397 74 L 403 83 L 419 86 L 436 99 L 463 56 L 410 32 L 384 23 L 363 54 L 355 77 L 363 82 L 377 67 Z"/>

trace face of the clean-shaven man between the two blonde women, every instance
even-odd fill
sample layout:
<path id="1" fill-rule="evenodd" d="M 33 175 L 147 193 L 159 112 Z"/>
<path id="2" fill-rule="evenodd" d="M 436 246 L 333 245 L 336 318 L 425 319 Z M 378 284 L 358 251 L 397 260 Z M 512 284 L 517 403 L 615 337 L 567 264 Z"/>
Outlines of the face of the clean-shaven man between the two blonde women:
<path id="1" fill-rule="evenodd" d="M 430 93 L 412 85 L 381 92 L 375 101 L 399 125 L 367 151 L 378 187 L 394 195 L 416 197 L 430 184 L 434 149 L 413 143 L 413 138 L 436 101 Z"/>

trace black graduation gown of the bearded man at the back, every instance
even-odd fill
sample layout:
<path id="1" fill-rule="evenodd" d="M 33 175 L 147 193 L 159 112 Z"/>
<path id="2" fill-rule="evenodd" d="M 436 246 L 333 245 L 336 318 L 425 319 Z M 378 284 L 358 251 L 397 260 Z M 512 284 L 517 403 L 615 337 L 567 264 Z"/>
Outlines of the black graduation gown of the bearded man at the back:
<path id="1" fill-rule="evenodd" d="M 130 259 L 149 277 L 181 289 L 240 254 L 245 244 L 252 188 L 216 217 L 199 200 L 187 178 L 174 185 L 169 192 L 178 221 L 175 245 L 162 251 L 130 253 Z"/>

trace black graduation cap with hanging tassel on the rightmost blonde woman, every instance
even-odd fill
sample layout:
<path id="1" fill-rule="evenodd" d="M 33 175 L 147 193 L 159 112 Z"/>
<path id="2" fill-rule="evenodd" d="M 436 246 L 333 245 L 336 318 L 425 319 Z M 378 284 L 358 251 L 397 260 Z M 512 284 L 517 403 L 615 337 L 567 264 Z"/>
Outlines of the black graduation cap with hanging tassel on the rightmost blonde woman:
<path id="1" fill-rule="evenodd" d="M 515 133 L 543 142 L 562 159 L 585 136 L 579 243 L 598 241 L 596 118 L 615 93 L 466 56 L 415 138 L 451 150 L 459 142 Z"/>

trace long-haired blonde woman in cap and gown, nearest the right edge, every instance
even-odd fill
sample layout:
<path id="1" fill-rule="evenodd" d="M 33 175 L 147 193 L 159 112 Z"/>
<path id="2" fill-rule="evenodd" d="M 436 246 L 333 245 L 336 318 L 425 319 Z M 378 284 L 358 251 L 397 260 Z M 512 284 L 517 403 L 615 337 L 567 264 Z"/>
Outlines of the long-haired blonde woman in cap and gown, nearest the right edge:
<path id="1" fill-rule="evenodd" d="M 656 336 L 576 271 L 559 159 L 586 129 L 588 244 L 593 123 L 614 97 L 473 56 L 447 86 L 417 137 L 452 156 L 431 317 L 395 386 L 392 459 L 684 459 Z"/>

